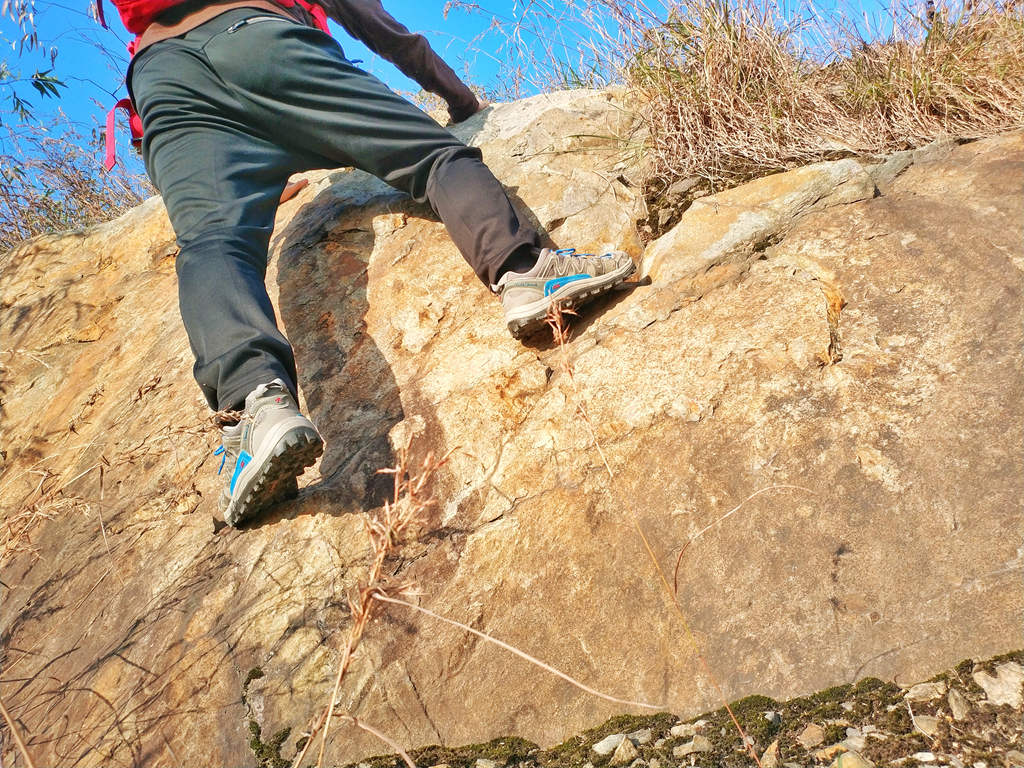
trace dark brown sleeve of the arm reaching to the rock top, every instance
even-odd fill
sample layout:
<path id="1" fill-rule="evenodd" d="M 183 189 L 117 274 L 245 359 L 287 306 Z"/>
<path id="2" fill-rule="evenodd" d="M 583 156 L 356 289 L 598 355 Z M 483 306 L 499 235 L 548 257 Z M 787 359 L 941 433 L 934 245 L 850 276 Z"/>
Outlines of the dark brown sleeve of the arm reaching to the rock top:
<path id="1" fill-rule="evenodd" d="M 324 10 L 345 31 L 374 53 L 383 56 L 449 105 L 455 121 L 464 120 L 478 106 L 476 96 L 430 47 L 423 35 L 410 32 L 380 0 L 323 0 Z"/>

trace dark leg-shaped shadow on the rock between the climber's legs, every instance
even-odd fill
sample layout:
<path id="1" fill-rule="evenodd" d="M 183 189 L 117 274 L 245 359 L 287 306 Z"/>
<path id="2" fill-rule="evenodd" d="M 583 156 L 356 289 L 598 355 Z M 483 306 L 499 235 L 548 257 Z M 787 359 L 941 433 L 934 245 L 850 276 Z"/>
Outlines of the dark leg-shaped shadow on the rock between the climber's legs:
<path id="1" fill-rule="evenodd" d="M 373 218 L 386 203 L 339 207 L 319 197 L 328 200 L 307 204 L 276 242 L 279 312 L 306 410 L 326 442 L 323 481 L 302 499 L 312 497 L 316 511 L 344 514 L 388 498 L 390 477 L 378 470 L 395 463 L 388 432 L 404 414 L 390 366 L 366 327 Z"/>

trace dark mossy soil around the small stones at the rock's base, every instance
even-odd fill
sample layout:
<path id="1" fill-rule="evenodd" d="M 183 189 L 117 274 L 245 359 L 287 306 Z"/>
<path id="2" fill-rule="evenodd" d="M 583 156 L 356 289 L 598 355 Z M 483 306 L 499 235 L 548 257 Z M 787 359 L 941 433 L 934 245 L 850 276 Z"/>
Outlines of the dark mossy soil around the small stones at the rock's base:
<path id="1" fill-rule="evenodd" d="M 836 765 L 840 755 L 857 752 L 879 766 L 984 764 L 987 768 L 1009 768 L 1017 765 L 1011 753 L 1019 750 L 1024 739 L 1022 711 L 1008 705 L 993 706 L 973 678 L 976 672 L 992 674 L 1007 663 L 1024 664 L 1024 650 L 982 662 L 966 659 L 936 675 L 928 682 L 944 684 L 946 693 L 931 700 L 911 700 L 912 697 L 907 697 L 909 687 L 865 678 L 787 701 L 746 696 L 733 701 L 730 709 L 748 737 L 753 739 L 765 765 L 772 763 L 762 756 L 777 742 L 778 759 L 774 765 L 779 766 Z M 955 720 L 950 711 L 948 696 L 951 691 L 957 691 L 969 703 L 968 713 L 961 720 Z M 916 729 L 915 719 L 922 717 L 937 719 L 938 729 L 934 735 L 928 736 Z M 673 751 L 691 739 L 689 734 L 674 736 L 671 733 L 672 728 L 681 723 L 695 725 L 695 733 L 709 740 L 711 751 L 674 757 Z M 823 735 L 818 743 L 805 746 L 799 737 L 811 724 L 819 726 Z M 287 733 L 281 731 L 264 743 L 259 739 L 259 726 L 255 722 L 250 726 L 255 734 L 253 749 L 260 768 L 291 765 L 280 754 Z M 638 731 L 647 729 L 650 730 L 649 738 L 636 739 Z M 724 707 L 684 721 L 669 713 L 620 715 L 547 750 L 526 739 L 509 736 L 458 748 L 434 744 L 413 750 L 409 755 L 418 766 L 563 768 L 590 764 L 592 768 L 602 768 L 611 763 L 613 753 L 599 755 L 593 746 L 612 734 L 634 735 L 639 757 L 632 763 L 633 768 L 748 768 L 754 765 Z M 862 739 L 863 745 L 851 743 L 855 739 Z M 858 749 L 853 749 L 855 746 Z M 494 765 L 484 762 L 477 766 L 477 761 L 492 761 Z M 842 762 L 845 761 L 840 765 Z M 399 756 L 383 755 L 350 763 L 345 768 L 401 768 L 403 765 Z"/>

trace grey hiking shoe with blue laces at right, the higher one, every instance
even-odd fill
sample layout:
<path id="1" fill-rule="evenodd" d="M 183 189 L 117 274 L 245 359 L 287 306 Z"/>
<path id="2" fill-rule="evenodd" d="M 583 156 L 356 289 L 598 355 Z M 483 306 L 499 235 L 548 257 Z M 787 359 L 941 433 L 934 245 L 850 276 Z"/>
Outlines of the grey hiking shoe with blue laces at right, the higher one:
<path id="1" fill-rule="evenodd" d="M 614 288 L 635 269 L 633 259 L 622 251 L 595 256 L 574 248 L 545 248 L 532 269 L 505 272 L 495 288 L 502 297 L 505 323 L 518 339 L 544 325 L 552 304 L 579 305 Z"/>

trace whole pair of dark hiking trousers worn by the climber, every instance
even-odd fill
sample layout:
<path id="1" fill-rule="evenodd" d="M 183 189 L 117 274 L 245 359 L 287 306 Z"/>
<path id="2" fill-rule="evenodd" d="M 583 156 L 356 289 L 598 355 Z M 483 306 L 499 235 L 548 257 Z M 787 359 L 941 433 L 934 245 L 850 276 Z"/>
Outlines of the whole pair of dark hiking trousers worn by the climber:
<path id="1" fill-rule="evenodd" d="M 210 406 L 260 384 L 295 389 L 295 357 L 264 284 L 288 177 L 354 166 L 429 201 L 485 284 L 537 231 L 463 144 L 329 36 L 267 11 L 226 11 L 143 50 L 129 73 L 142 158 L 180 246 L 181 317 Z"/>

